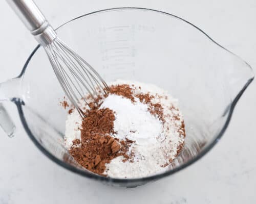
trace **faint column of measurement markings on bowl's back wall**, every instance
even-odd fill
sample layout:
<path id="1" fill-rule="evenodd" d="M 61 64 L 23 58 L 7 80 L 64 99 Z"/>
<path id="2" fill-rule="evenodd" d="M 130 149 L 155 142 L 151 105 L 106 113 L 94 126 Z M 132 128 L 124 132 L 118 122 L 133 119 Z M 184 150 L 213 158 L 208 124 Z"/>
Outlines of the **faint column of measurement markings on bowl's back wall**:
<path id="1" fill-rule="evenodd" d="M 143 27 L 140 27 L 143 28 Z M 115 70 L 113 75 L 120 78 L 124 73 L 134 75 L 136 49 L 135 33 L 140 32 L 132 25 L 113 26 L 100 29 L 99 42 L 103 69 Z"/>

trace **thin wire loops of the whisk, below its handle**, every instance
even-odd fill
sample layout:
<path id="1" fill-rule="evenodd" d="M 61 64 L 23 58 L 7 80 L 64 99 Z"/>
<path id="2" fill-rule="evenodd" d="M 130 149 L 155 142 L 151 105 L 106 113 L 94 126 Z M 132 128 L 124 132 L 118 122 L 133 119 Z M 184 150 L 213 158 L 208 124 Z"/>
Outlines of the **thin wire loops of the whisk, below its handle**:
<path id="1" fill-rule="evenodd" d="M 79 101 L 89 105 L 84 97 L 89 93 L 96 100 L 99 92 L 106 93 L 108 85 L 88 62 L 60 39 L 56 38 L 44 48 L 62 89 L 81 117 L 85 117 Z"/>

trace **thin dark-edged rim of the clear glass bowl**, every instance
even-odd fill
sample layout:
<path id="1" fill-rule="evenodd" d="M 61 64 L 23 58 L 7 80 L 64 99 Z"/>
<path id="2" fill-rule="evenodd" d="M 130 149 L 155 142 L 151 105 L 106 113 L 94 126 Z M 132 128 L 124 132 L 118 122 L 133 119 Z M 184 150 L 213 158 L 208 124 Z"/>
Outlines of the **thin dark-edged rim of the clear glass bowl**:
<path id="1" fill-rule="evenodd" d="M 220 46 L 221 48 L 227 50 L 227 52 L 229 52 L 230 54 L 238 57 L 237 55 L 233 54 L 232 52 L 230 52 L 228 49 L 226 49 L 225 47 L 223 47 L 222 45 L 218 44 L 216 41 L 214 41 L 212 38 L 210 38 L 204 31 L 202 31 L 200 28 L 198 28 L 196 25 L 188 22 L 187 20 L 181 18 L 181 17 L 178 17 L 176 15 L 173 15 L 173 14 L 169 14 L 167 12 L 163 12 L 163 11 L 159 11 L 159 10 L 155 10 L 155 9 L 148 9 L 148 8 L 140 8 L 140 7 L 117 7 L 117 8 L 109 8 L 109 9 L 102 9 L 102 10 L 98 10 L 98 11 L 94 11 L 94 12 L 91 12 L 91 13 L 87 13 L 87 14 L 84 14 L 84 15 L 81 15 L 81 16 L 78 16 L 76 18 L 73 18 L 63 24 L 61 24 L 57 29 L 63 27 L 63 25 L 69 23 L 69 22 L 72 22 L 76 19 L 79 19 L 81 17 L 84 17 L 84 16 L 88 16 L 88 15 L 92 15 L 92 14 L 95 14 L 95 13 L 100 13 L 100 12 L 105 12 L 105 11 L 115 11 L 115 10 L 146 10 L 146 11 L 152 11 L 152 12 L 158 12 L 160 14 L 166 14 L 166 15 L 169 15 L 169 16 L 172 16 L 172 17 L 176 17 L 182 21 L 184 21 L 185 23 L 188 23 L 190 25 L 192 25 L 194 28 L 196 28 L 198 31 L 202 32 L 205 36 L 207 36 L 212 42 L 214 42 L 215 44 L 217 44 L 218 46 Z M 56 30 L 57 30 L 56 29 Z M 31 60 L 31 58 L 33 57 L 33 55 L 36 53 L 37 49 L 40 47 L 40 45 L 37 45 L 33 52 L 30 54 L 30 56 L 28 57 L 25 65 L 23 66 L 23 69 L 22 71 L 20 72 L 20 74 L 18 75 L 18 78 L 21 78 L 23 76 L 23 74 L 25 73 L 26 71 L 26 68 L 28 67 L 28 64 Z M 240 57 L 238 57 L 240 58 Z M 241 59 L 241 58 L 240 58 Z M 242 60 L 242 59 L 241 59 Z M 244 61 L 244 60 L 242 60 Z M 248 67 L 252 70 L 251 66 L 244 61 L 244 63 L 246 63 L 248 65 Z M 112 177 L 104 177 L 104 176 L 100 176 L 100 175 L 97 175 L 97 174 L 93 174 L 93 173 L 89 173 L 89 172 L 86 172 L 86 171 L 83 171 L 81 169 L 78 169 L 74 166 L 71 166 L 59 159 L 57 159 L 55 156 L 53 156 L 47 149 L 45 149 L 43 146 L 40 145 L 40 143 L 35 139 L 35 137 L 33 136 L 32 132 L 30 131 L 29 129 L 29 126 L 27 124 L 27 121 L 26 121 L 26 118 L 25 118 L 25 115 L 24 115 L 24 112 L 23 112 L 23 105 L 24 103 L 21 101 L 21 100 L 14 100 L 14 103 L 16 104 L 17 106 L 17 109 L 18 109 L 18 113 L 19 113 L 19 116 L 20 116 L 20 120 L 22 121 L 22 124 L 24 126 L 24 129 L 25 131 L 27 132 L 28 136 L 30 137 L 30 139 L 32 140 L 32 142 L 38 147 L 38 149 L 40 149 L 42 151 L 42 153 L 44 155 L 46 155 L 49 159 L 51 159 L 53 162 L 57 163 L 58 165 L 62 166 L 63 168 L 66 168 L 74 173 L 77 173 L 77 174 L 80 174 L 82 176 L 85 176 L 85 177 L 88 177 L 90 179 L 94 179 L 94 180 L 98 180 L 98 181 L 104 181 L 104 182 L 108 182 L 108 183 L 117 183 L 117 184 L 128 184 L 128 183 L 141 183 L 141 182 L 150 182 L 150 181 L 154 181 L 154 180 L 158 180 L 158 179 L 161 179 L 167 175 L 171 175 L 177 171 L 180 171 L 184 168 L 186 168 L 187 166 L 195 163 L 196 161 L 198 161 L 200 158 L 202 158 L 212 147 L 215 146 L 215 144 L 220 140 L 220 138 L 222 137 L 222 135 L 224 134 L 224 132 L 226 131 L 227 129 L 227 126 L 230 122 L 230 119 L 231 119 L 231 116 L 232 116 L 232 113 L 233 113 L 233 110 L 234 110 L 234 107 L 236 107 L 236 104 L 238 102 L 238 100 L 240 99 L 241 95 L 244 93 L 244 91 L 246 90 L 246 88 L 249 86 L 249 84 L 253 81 L 254 79 L 254 75 L 253 75 L 253 72 L 252 72 L 252 77 L 250 79 L 248 79 L 248 81 L 245 83 L 245 85 L 243 86 L 243 88 L 239 91 L 239 93 L 236 95 L 236 97 L 234 97 L 231 105 L 229 106 L 229 112 L 228 112 L 228 116 L 227 116 L 227 119 L 225 121 L 225 124 L 224 126 L 222 127 L 222 130 L 220 131 L 220 133 L 216 136 L 216 138 L 206 147 L 204 148 L 197 156 L 195 156 L 193 159 L 189 160 L 188 162 L 178 166 L 177 168 L 175 169 L 172 169 L 172 170 L 168 170 L 166 172 L 162 172 L 160 174 L 156 174 L 156 175 L 151 175 L 151 176 L 146 176 L 146 177 L 141 177 L 141 178 L 135 178 L 135 179 L 118 179 L 118 178 L 112 178 Z"/>

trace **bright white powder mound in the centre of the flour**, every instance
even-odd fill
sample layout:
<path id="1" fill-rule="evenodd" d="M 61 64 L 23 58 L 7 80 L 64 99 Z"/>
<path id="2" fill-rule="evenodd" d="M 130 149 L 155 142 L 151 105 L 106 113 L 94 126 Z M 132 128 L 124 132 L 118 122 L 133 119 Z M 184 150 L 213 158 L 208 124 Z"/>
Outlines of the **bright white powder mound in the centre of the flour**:
<path id="1" fill-rule="evenodd" d="M 100 109 L 109 108 L 115 112 L 115 137 L 120 140 L 126 137 L 137 144 L 154 143 L 157 141 L 156 136 L 162 133 L 162 122 L 147 111 L 147 105 L 136 99 L 134 104 L 128 98 L 111 94 L 104 99 Z"/>

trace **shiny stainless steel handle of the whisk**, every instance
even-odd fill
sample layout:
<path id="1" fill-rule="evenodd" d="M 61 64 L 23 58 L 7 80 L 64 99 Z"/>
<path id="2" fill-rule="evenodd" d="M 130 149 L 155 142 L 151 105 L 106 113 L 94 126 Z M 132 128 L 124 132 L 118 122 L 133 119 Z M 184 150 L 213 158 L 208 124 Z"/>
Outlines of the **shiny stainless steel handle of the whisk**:
<path id="1" fill-rule="evenodd" d="M 7 0 L 17 16 L 42 46 L 50 44 L 57 34 L 33 0 Z"/>

